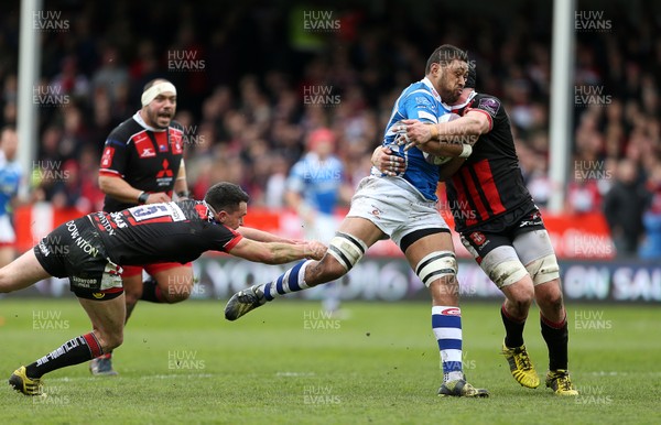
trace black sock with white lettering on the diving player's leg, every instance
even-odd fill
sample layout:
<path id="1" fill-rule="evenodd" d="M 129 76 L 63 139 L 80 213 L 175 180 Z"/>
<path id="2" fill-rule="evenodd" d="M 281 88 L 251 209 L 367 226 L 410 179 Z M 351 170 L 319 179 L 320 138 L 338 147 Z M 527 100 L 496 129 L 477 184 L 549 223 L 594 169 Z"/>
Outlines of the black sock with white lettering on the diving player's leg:
<path id="1" fill-rule="evenodd" d="M 36 360 L 34 363 L 28 364 L 25 367 L 25 374 L 29 378 L 41 378 L 44 373 L 91 360 L 102 353 L 104 350 L 94 334 L 82 335 L 64 342 L 59 348 Z"/>

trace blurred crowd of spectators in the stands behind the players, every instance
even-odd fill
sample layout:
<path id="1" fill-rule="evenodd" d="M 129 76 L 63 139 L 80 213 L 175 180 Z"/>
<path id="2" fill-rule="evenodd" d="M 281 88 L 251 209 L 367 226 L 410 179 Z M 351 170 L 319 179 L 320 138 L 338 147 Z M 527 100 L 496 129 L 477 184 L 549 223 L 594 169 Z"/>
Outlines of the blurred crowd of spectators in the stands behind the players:
<path id="1" fill-rule="evenodd" d="M 17 116 L 13 3 L 0 7 L 2 126 Z M 503 2 L 480 13 L 446 2 L 225 3 L 44 1 L 44 10 L 61 12 L 51 19 L 68 28 L 42 32 L 39 92 L 62 101 L 39 105 L 35 166 L 68 177 L 36 174 L 45 177 L 30 182 L 35 199 L 80 212 L 101 208 L 96 177 L 104 141 L 140 108 L 142 87 L 155 77 L 177 87 L 195 196 L 229 181 L 250 194 L 253 207 L 283 207 L 288 173 L 318 128 L 335 133 L 345 183 L 354 187 L 369 172 L 394 99 L 423 77 L 431 52 L 451 43 L 476 62 L 477 91 L 503 101 L 528 186 L 545 206 L 553 190 L 552 2 Z M 646 0 L 576 1 L 576 8 L 602 11 L 592 18 L 602 24 L 576 30 L 566 211 L 603 211 L 618 252 L 636 254 L 650 249 L 654 231 L 661 243 L 661 37 L 654 36 L 661 12 Z"/>

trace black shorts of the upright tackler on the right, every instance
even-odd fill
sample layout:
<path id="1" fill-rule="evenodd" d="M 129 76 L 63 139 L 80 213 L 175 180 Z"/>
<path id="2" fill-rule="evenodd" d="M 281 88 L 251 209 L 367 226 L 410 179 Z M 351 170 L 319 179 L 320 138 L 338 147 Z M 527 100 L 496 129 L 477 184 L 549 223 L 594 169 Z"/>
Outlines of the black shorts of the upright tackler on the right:
<path id="1" fill-rule="evenodd" d="M 494 249 L 502 246 L 511 247 L 519 235 L 544 229 L 539 208 L 534 204 L 527 204 L 484 225 L 473 226 L 460 235 L 466 249 L 473 252 L 470 250 L 473 248 L 477 252 L 476 260 L 479 263 Z"/>

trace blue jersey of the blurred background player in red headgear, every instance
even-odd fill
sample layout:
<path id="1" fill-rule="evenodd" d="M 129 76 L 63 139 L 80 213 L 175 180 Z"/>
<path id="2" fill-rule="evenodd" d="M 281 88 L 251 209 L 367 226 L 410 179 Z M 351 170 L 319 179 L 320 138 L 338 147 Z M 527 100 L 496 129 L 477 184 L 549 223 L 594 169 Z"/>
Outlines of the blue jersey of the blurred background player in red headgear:
<path id="1" fill-rule="evenodd" d="M 333 214 L 342 179 L 344 166 L 342 162 L 329 156 L 319 161 L 315 153 L 307 153 L 294 164 L 286 186 L 301 194 L 307 205 L 322 214 Z"/>

